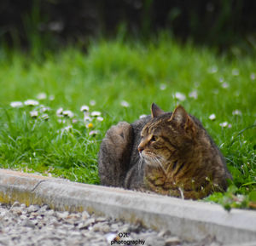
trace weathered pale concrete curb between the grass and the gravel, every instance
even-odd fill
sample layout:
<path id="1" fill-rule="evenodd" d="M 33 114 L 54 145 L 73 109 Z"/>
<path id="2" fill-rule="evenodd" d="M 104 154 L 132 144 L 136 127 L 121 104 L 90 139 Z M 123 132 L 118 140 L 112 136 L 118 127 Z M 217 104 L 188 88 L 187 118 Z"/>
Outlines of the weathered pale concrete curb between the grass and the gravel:
<path id="1" fill-rule="evenodd" d="M 216 204 L 0 169 L 0 203 L 15 201 L 139 221 L 158 231 L 168 229 L 186 240 L 211 235 L 223 243 L 256 242 L 256 212 L 252 210 L 227 212 Z"/>

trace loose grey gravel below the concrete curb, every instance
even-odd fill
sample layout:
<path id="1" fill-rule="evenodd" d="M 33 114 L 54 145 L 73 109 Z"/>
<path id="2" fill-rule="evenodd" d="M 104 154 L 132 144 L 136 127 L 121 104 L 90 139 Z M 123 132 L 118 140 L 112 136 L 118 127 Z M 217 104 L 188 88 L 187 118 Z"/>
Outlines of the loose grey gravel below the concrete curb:
<path id="1" fill-rule="evenodd" d="M 115 240 L 115 241 L 114 241 Z M 82 213 L 58 212 L 15 202 L 0 203 L 0 246 L 150 245 L 220 246 L 212 237 L 184 242 L 170 231 L 155 232 L 124 221 Z"/>

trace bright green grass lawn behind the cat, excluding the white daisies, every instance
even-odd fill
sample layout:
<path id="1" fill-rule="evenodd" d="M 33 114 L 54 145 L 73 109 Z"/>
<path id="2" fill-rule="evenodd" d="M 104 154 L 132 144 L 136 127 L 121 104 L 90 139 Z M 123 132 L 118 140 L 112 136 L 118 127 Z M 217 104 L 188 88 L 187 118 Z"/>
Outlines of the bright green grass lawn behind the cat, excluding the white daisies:
<path id="1" fill-rule="evenodd" d="M 208 200 L 230 207 L 253 207 L 256 200 L 256 60 L 228 60 L 212 50 L 178 45 L 168 37 L 148 43 L 102 41 L 84 54 L 69 48 L 36 60 L 18 51 L 0 51 L 0 165 L 98 184 L 97 152 L 107 129 L 119 121 L 133 122 L 149 114 L 152 102 L 166 111 L 177 104 L 198 117 L 226 157 L 234 177 L 228 192 Z M 160 89 L 164 84 L 166 89 Z M 196 91 L 198 97 L 189 93 Z M 12 101 L 37 99 L 40 106 L 13 108 Z M 179 101 L 180 92 L 186 99 Z M 49 96 L 54 95 L 54 100 Z M 96 100 L 90 106 L 90 100 Z M 129 107 L 121 106 L 121 101 Z M 88 129 L 80 106 L 102 112 Z M 57 117 L 63 107 L 75 116 Z M 239 110 L 241 115 L 233 115 Z M 46 121 L 41 116 L 47 113 Z M 214 113 L 216 119 L 209 119 Z M 59 121 L 65 120 L 65 123 Z M 58 121 L 59 120 L 59 121 Z M 230 127 L 219 124 L 227 122 Z M 71 125 L 72 128 L 66 129 Z M 90 135 L 91 130 L 98 134 Z"/>

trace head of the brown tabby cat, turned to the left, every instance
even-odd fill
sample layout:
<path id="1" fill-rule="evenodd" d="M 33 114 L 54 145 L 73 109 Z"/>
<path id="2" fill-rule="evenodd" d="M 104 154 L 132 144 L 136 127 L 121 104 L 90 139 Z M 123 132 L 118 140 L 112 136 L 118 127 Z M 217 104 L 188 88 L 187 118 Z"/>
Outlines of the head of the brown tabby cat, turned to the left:
<path id="1" fill-rule="evenodd" d="M 152 104 L 151 117 L 141 132 L 138 146 L 147 164 L 158 166 L 189 152 L 199 127 L 183 106 L 177 106 L 174 112 L 164 112 Z"/>

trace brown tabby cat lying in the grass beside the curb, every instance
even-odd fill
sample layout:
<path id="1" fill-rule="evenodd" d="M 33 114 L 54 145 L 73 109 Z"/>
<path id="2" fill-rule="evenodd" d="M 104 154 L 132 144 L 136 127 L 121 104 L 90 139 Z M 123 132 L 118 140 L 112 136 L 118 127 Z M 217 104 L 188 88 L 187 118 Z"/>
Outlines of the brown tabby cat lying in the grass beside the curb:
<path id="1" fill-rule="evenodd" d="M 224 157 L 201 122 L 183 106 L 120 122 L 102 140 L 98 170 L 103 186 L 201 199 L 224 192 L 232 179 Z"/>

